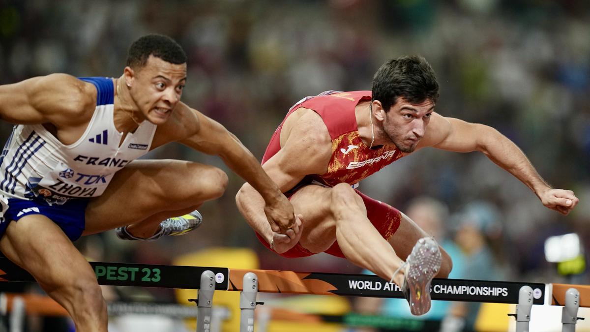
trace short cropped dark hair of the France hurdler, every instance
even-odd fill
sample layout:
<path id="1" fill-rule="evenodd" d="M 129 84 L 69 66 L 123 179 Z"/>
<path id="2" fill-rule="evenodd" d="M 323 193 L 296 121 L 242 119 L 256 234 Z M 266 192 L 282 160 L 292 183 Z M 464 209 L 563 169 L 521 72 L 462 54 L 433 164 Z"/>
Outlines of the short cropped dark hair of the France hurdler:
<path id="1" fill-rule="evenodd" d="M 186 63 L 186 53 L 175 40 L 165 35 L 149 34 L 131 44 L 127 52 L 127 66 L 141 68 L 148 62 L 149 56 L 173 64 Z"/>

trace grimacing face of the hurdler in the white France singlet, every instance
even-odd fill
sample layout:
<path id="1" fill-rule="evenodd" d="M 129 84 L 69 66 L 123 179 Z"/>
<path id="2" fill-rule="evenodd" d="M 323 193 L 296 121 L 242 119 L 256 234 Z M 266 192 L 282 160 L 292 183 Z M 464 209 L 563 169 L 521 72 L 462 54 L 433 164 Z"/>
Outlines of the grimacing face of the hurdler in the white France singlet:
<path id="1" fill-rule="evenodd" d="M 185 82 L 186 63 L 172 64 L 150 56 L 145 66 L 132 72 L 130 93 L 143 116 L 159 125 L 168 121 L 181 100 Z"/>

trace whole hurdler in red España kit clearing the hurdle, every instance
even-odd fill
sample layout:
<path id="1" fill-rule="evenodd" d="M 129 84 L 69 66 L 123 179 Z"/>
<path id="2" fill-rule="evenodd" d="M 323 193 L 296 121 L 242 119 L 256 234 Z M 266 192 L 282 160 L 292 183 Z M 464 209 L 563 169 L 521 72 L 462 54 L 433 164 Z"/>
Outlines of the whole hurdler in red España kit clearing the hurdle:
<path id="1" fill-rule="evenodd" d="M 576 206 L 572 191 L 549 187 L 496 129 L 435 112 L 438 90 L 430 64 L 407 56 L 383 63 L 371 92 L 330 91 L 293 106 L 263 165 L 290 197 L 297 214 L 293 228 L 268 221 L 264 200 L 251 185 L 244 184 L 236 196 L 264 245 L 287 257 L 345 256 L 395 282 L 412 314 L 421 315 L 430 310 L 432 278 L 448 277 L 451 257 L 407 216 L 350 186 L 422 148 L 478 151 L 525 183 L 549 209 L 568 214 Z"/>

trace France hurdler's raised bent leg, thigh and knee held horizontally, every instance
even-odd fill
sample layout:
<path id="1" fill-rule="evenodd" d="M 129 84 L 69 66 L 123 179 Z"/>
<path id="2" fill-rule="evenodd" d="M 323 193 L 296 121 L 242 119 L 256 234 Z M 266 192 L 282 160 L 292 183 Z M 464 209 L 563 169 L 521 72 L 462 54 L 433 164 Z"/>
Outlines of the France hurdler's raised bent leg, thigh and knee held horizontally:
<path id="1" fill-rule="evenodd" d="M 83 235 L 132 225 L 133 235 L 152 236 L 162 220 L 220 197 L 227 183 L 225 172 L 198 162 L 130 162 L 114 175 L 103 195 L 90 200 Z"/>

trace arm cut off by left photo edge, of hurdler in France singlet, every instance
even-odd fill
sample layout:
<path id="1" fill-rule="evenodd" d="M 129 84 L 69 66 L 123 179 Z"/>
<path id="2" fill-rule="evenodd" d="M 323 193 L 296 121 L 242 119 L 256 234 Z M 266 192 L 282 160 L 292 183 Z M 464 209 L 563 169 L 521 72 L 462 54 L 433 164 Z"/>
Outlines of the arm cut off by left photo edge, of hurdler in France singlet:
<path id="1" fill-rule="evenodd" d="M 94 108 L 96 89 L 67 74 L 33 77 L 0 86 L 0 119 L 16 124 L 71 125 Z"/>

